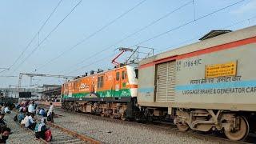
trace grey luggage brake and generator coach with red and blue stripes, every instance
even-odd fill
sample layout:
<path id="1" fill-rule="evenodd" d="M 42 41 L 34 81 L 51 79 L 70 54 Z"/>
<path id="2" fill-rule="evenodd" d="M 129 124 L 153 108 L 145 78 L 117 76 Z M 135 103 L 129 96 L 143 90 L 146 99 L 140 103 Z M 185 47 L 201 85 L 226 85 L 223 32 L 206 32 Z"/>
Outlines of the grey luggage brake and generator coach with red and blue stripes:
<path id="1" fill-rule="evenodd" d="M 214 34 L 139 62 L 138 105 L 179 130 L 242 140 L 256 125 L 256 26 Z"/>

